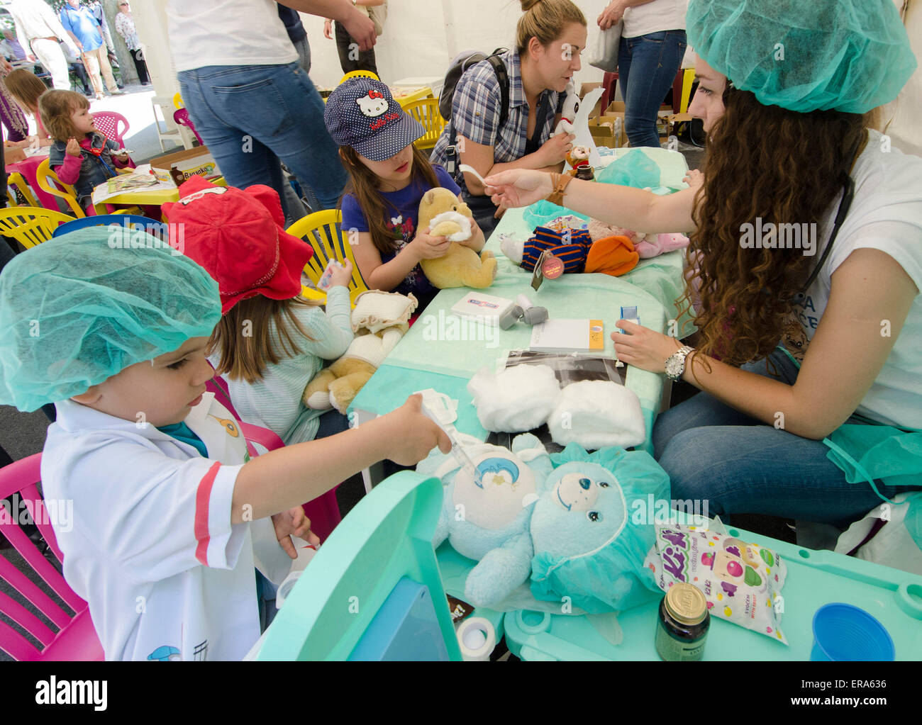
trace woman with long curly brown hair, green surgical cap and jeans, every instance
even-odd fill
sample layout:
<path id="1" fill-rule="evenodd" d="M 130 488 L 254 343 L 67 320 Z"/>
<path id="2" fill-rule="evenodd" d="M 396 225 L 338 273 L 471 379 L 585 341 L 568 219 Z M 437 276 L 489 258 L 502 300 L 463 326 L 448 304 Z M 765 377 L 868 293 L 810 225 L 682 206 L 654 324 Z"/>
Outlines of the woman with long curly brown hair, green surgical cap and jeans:
<path id="1" fill-rule="evenodd" d="M 690 232 L 697 349 L 612 334 L 624 362 L 702 391 L 653 430 L 672 497 L 845 525 L 922 481 L 922 158 L 869 129 L 916 59 L 892 0 L 691 0 L 687 27 L 700 186 L 509 170 L 488 192 Z"/>

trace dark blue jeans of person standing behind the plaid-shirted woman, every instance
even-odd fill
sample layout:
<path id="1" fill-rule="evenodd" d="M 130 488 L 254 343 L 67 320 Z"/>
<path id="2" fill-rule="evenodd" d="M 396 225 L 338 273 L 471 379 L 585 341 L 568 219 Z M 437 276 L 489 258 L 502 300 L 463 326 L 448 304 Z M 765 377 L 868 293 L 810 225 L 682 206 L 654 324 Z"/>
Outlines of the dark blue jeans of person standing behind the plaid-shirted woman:
<path id="1" fill-rule="evenodd" d="M 684 30 L 621 38 L 618 80 L 631 146 L 659 146 L 656 114 L 676 79 L 687 44 Z"/>

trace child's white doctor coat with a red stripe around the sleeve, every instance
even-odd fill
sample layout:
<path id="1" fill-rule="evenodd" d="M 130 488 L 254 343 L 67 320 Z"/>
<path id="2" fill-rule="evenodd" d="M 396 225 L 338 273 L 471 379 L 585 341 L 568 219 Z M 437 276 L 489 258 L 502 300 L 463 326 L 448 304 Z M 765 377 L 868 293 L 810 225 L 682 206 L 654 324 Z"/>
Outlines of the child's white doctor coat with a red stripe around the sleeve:
<path id="1" fill-rule="evenodd" d="M 259 562 L 290 560 L 269 544 L 270 520 L 231 525 L 247 458 L 231 414 L 205 393 L 186 417 L 203 458 L 149 424 L 73 401 L 56 407 L 43 492 L 73 501 L 72 520 L 53 521 L 54 532 L 106 659 L 242 660 L 259 638 L 254 566 L 278 581 L 283 574 Z"/>

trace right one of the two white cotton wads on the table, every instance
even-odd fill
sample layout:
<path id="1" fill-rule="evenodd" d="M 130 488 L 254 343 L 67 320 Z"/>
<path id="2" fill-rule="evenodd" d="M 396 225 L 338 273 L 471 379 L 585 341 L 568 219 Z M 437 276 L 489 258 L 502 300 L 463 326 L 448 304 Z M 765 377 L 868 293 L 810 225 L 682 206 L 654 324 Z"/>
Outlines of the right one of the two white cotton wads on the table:
<path id="1" fill-rule="evenodd" d="M 550 438 L 586 450 L 630 448 L 646 439 L 637 394 L 617 382 L 583 380 L 567 385 L 548 419 Z"/>

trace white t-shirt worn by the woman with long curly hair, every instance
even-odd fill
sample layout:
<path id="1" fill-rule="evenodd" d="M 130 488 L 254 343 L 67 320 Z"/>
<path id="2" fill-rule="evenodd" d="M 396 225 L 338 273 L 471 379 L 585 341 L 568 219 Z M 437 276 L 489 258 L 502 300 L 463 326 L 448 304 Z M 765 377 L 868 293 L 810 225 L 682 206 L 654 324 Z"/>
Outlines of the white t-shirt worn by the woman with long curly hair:
<path id="1" fill-rule="evenodd" d="M 885 251 L 922 290 L 922 158 L 905 155 L 895 146 L 884 152 L 881 134 L 869 133 L 868 146 L 852 171 L 851 209 L 804 304 L 795 310 L 808 339 L 829 301 L 833 272 L 852 251 Z M 816 262 L 833 229 L 841 197 L 841 193 L 836 197 L 825 223 L 818 225 Z M 854 354 L 861 355 L 860 341 L 856 340 Z M 857 413 L 887 425 L 922 429 L 922 294 L 913 300 L 903 330 Z"/>

